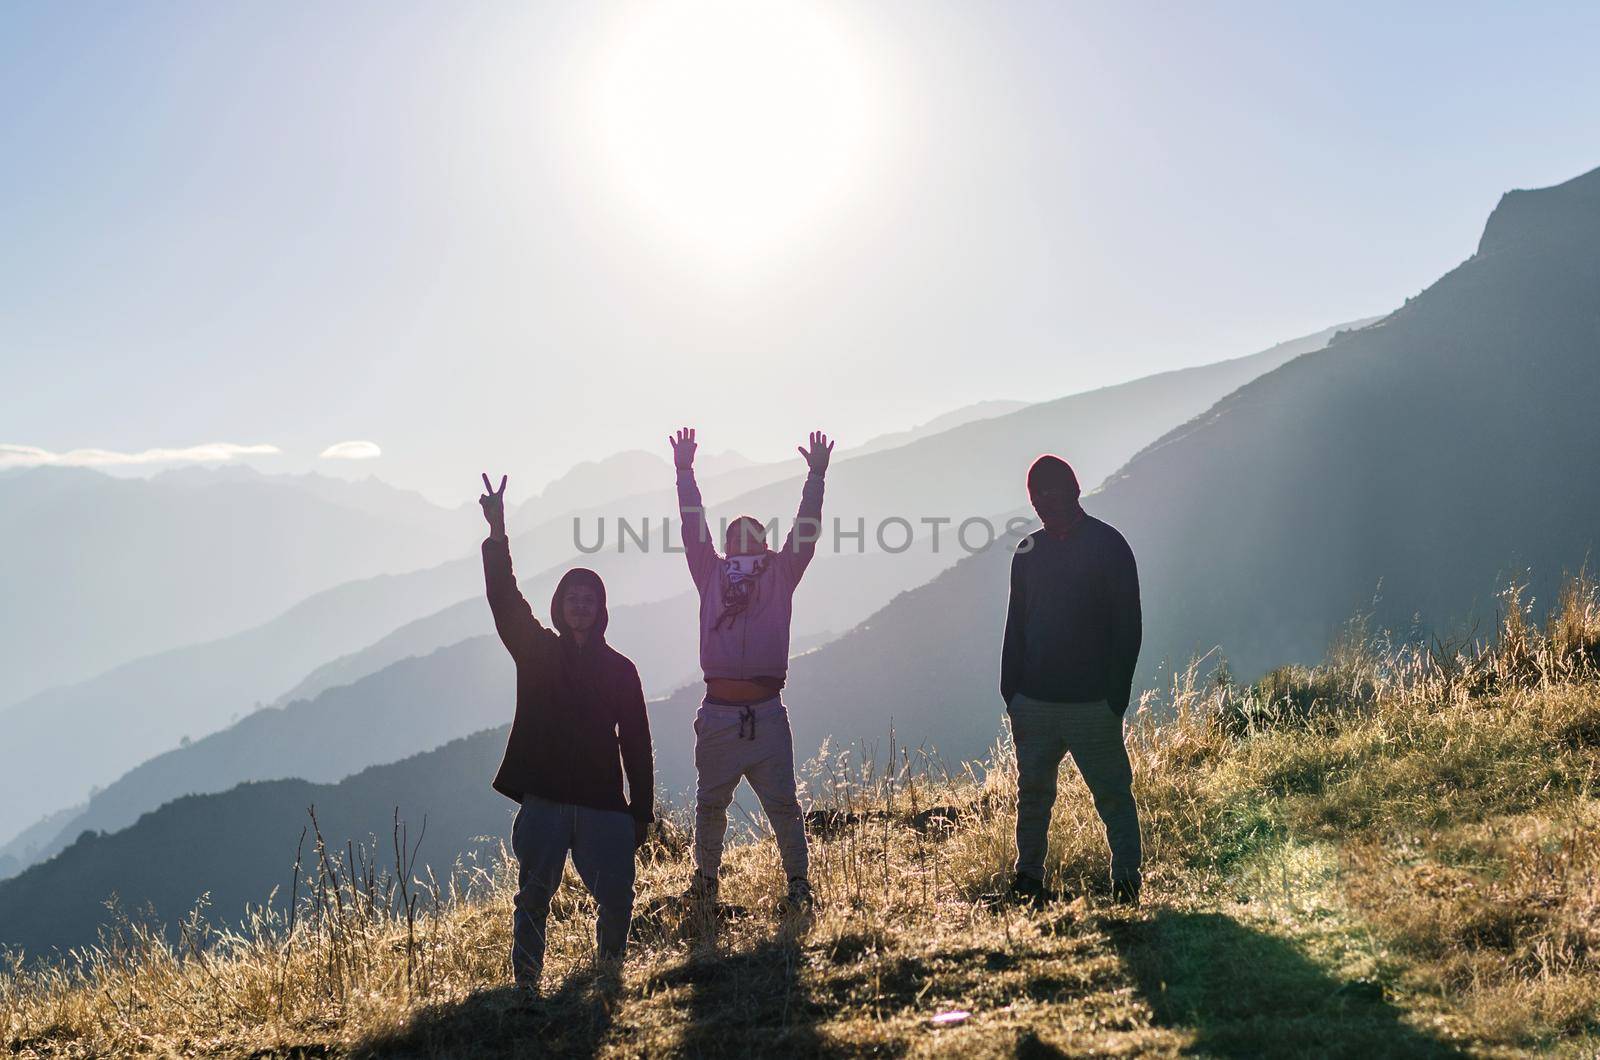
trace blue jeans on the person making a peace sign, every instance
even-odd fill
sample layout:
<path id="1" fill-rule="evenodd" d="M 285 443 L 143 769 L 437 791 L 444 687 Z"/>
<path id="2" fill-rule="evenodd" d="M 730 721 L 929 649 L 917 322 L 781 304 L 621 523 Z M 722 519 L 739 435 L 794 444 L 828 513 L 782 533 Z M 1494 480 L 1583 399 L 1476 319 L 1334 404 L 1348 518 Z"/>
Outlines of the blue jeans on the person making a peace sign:
<path id="1" fill-rule="evenodd" d="M 632 817 L 525 796 L 510 826 L 510 849 L 517 855 L 510 967 L 518 983 L 539 983 L 550 898 L 562 885 L 568 852 L 573 868 L 600 906 L 595 921 L 600 956 L 622 956 L 634 921 Z"/>

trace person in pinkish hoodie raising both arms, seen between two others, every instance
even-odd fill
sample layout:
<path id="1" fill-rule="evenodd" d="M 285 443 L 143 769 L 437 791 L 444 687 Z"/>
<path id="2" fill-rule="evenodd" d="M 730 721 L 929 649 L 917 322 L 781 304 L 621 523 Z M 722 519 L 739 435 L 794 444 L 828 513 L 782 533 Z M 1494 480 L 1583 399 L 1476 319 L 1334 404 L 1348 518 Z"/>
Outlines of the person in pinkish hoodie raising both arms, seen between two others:
<path id="1" fill-rule="evenodd" d="M 794 592 L 816 554 L 822 524 L 822 479 L 834 444 L 821 431 L 800 448 L 806 461 L 800 511 L 781 549 L 766 546 L 766 527 L 734 519 L 718 554 L 694 484 L 694 429 L 667 439 L 678 479 L 683 552 L 699 591 L 699 650 L 706 697 L 694 714 L 694 879 L 683 898 L 694 908 L 717 901 L 728 804 L 747 780 L 778 839 L 789 885 L 786 914 L 816 905 L 810 881 L 805 813 L 795 786 L 794 733 L 782 701 L 789 673 Z"/>

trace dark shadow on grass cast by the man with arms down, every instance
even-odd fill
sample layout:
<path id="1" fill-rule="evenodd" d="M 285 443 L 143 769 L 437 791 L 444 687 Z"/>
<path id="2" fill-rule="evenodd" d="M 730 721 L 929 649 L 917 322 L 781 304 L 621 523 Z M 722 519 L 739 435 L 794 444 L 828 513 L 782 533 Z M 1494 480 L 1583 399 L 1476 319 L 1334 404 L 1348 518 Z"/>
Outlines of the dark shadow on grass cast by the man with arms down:
<path id="1" fill-rule="evenodd" d="M 1106 925 L 1155 1023 L 1211 1057 L 1466 1057 L 1403 1022 L 1379 983 L 1342 982 L 1293 943 L 1221 913 Z"/>

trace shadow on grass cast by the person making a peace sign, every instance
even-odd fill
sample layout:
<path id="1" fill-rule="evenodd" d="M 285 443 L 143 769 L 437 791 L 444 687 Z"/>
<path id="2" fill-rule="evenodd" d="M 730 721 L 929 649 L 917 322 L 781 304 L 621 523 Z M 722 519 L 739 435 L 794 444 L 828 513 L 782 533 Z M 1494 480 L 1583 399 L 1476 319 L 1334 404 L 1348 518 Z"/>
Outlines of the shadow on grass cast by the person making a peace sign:
<path id="1" fill-rule="evenodd" d="M 621 983 L 579 972 L 536 1001 L 510 985 L 429 1006 L 392 1034 L 370 1038 L 352 1057 L 594 1057 L 611 1026 Z"/>

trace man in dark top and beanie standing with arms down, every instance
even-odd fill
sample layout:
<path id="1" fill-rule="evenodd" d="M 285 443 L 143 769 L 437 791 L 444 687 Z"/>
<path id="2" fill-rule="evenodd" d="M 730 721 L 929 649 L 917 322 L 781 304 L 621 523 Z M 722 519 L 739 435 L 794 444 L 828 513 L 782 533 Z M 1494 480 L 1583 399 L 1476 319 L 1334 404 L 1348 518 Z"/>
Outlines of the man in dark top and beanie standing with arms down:
<path id="1" fill-rule="evenodd" d="M 1045 897 L 1056 773 L 1070 754 L 1106 826 L 1112 895 L 1136 903 L 1139 807 L 1122 721 L 1139 658 L 1139 572 L 1128 541 L 1083 511 L 1067 461 L 1035 460 L 1027 493 L 1045 525 L 1011 557 L 1000 653 L 1018 772 L 1011 895 L 1027 903 Z"/>

